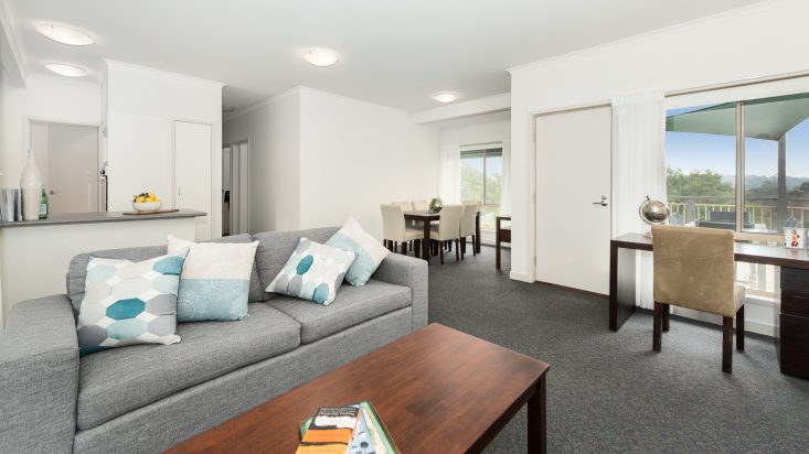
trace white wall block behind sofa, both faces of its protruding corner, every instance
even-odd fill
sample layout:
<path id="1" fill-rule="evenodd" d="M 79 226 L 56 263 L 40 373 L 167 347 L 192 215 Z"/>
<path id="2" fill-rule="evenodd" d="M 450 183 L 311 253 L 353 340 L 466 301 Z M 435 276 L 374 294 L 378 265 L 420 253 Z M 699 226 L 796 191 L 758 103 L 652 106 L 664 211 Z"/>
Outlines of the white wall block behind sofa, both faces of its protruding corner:
<path id="1" fill-rule="evenodd" d="M 380 204 L 435 196 L 438 128 L 406 111 L 298 87 L 225 121 L 251 145 L 251 231 L 342 225 L 379 238 Z"/>

